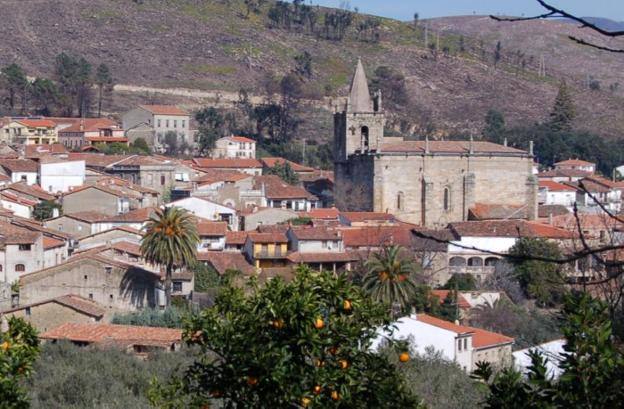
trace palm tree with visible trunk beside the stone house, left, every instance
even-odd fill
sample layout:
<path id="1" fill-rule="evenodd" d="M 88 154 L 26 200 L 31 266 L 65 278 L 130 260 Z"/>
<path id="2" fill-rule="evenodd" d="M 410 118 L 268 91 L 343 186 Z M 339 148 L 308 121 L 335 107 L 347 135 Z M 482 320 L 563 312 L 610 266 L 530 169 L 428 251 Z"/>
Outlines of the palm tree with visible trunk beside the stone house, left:
<path id="1" fill-rule="evenodd" d="M 164 266 L 165 298 L 171 305 L 171 277 L 176 268 L 188 268 L 196 262 L 197 226 L 195 218 L 185 209 L 158 209 L 145 226 L 141 254 L 148 263 Z"/>

